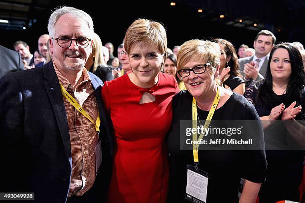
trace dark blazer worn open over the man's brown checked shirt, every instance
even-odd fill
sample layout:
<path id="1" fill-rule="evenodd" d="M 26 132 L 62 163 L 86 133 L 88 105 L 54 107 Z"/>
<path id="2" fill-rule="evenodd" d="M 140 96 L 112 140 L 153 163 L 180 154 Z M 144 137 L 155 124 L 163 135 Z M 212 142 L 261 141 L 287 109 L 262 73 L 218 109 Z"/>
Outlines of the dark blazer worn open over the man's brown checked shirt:
<path id="1" fill-rule="evenodd" d="M 111 178 L 113 146 L 101 99 L 103 83 L 94 74 L 89 75 L 101 118 L 102 164 L 95 183 L 103 199 Z M 0 192 L 34 192 L 36 202 L 66 202 L 72 155 L 65 106 L 52 61 L 42 68 L 3 76 L 0 92 Z"/>

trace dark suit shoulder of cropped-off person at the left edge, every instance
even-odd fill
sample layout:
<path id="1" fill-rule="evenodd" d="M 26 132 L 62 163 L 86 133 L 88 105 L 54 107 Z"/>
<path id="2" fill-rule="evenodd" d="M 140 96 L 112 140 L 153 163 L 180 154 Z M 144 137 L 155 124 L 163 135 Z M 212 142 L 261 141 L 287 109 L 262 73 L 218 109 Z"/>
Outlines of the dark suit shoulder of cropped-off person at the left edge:
<path id="1" fill-rule="evenodd" d="M 7 73 L 19 70 L 23 70 L 20 54 L 0 45 L 0 78 Z"/>

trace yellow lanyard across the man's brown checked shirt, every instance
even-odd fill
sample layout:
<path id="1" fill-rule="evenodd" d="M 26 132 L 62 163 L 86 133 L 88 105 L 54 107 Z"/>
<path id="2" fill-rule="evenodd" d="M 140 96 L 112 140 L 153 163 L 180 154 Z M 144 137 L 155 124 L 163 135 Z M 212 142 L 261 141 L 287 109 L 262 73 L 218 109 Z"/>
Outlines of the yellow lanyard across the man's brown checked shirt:
<path id="1" fill-rule="evenodd" d="M 93 121 L 93 119 L 89 116 L 89 114 L 77 103 L 77 101 L 67 92 L 67 90 L 60 84 L 60 89 L 62 95 L 81 113 L 83 114 L 91 123 L 95 125 L 95 130 L 100 133 L 100 124 L 101 124 L 101 119 L 100 119 L 100 113 L 98 113 L 98 118 L 96 119 L 96 122 Z"/>

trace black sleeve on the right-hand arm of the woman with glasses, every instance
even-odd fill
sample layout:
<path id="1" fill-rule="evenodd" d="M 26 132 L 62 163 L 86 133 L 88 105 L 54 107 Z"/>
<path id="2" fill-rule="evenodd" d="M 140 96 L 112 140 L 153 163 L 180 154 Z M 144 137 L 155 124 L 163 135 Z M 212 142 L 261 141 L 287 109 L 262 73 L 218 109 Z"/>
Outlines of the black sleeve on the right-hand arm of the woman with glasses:
<path id="1" fill-rule="evenodd" d="M 255 183 L 263 183 L 266 176 L 266 154 L 263 124 L 254 106 L 248 102 L 243 118 L 243 133 L 253 141 L 253 145 L 241 151 L 242 178 Z"/>

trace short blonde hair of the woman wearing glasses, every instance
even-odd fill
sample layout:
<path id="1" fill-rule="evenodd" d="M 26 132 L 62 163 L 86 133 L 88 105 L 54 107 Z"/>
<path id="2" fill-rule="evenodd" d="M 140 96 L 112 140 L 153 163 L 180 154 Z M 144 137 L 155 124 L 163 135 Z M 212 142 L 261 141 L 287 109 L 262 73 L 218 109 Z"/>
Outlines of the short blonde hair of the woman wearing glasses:
<path id="1" fill-rule="evenodd" d="M 198 59 L 211 63 L 213 72 L 220 64 L 220 48 L 217 43 L 192 39 L 184 42 L 177 53 L 177 71 L 191 59 Z"/>

